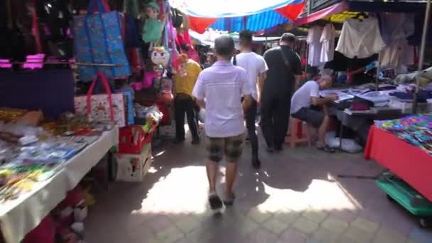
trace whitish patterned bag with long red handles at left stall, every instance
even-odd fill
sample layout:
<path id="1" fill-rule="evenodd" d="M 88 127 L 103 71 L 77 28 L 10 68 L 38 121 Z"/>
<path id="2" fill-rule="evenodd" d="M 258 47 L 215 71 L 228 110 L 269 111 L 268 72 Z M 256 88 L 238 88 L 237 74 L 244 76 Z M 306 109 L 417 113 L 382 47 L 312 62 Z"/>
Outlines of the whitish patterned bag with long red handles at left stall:
<path id="1" fill-rule="evenodd" d="M 92 95 L 98 78 L 107 94 Z M 87 95 L 75 97 L 74 103 L 77 114 L 87 115 L 95 121 L 114 121 L 119 127 L 126 126 L 123 93 L 112 94 L 107 77 L 101 71 L 97 72 Z"/>

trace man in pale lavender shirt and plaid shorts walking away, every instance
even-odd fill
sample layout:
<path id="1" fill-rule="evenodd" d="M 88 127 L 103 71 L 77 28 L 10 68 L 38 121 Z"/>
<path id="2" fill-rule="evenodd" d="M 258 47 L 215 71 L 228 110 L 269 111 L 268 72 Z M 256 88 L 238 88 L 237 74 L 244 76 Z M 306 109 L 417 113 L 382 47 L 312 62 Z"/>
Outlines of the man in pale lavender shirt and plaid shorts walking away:
<path id="1" fill-rule="evenodd" d="M 252 90 L 243 68 L 232 65 L 234 41 L 229 36 L 215 39 L 217 62 L 200 73 L 193 90 L 193 96 L 200 107 L 205 106 L 205 135 L 209 161 L 207 178 L 210 185 L 209 202 L 212 210 L 222 207 L 222 200 L 216 192 L 216 178 L 219 162 L 225 156 L 225 205 L 232 205 L 232 186 L 237 177 L 237 161 L 244 144 L 244 112 L 252 103 Z M 244 97 L 242 103 L 241 99 Z"/>

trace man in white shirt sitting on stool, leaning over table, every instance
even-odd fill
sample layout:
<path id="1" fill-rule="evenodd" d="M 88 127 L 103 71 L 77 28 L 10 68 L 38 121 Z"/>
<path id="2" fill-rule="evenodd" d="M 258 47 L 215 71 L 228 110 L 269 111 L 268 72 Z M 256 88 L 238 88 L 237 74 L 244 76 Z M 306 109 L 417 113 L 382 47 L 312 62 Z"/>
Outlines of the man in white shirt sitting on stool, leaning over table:
<path id="1" fill-rule="evenodd" d="M 323 75 L 318 81 L 308 81 L 300 87 L 291 99 L 291 117 L 306 121 L 318 128 L 318 149 L 323 149 L 326 152 L 333 152 L 332 149 L 325 146 L 325 134 L 328 130 L 330 118 L 324 112 L 320 112 L 315 107 L 325 107 L 328 102 L 338 99 L 337 95 L 330 95 L 325 98 L 320 98 L 320 90 L 325 90 L 331 87 L 332 77 Z"/>

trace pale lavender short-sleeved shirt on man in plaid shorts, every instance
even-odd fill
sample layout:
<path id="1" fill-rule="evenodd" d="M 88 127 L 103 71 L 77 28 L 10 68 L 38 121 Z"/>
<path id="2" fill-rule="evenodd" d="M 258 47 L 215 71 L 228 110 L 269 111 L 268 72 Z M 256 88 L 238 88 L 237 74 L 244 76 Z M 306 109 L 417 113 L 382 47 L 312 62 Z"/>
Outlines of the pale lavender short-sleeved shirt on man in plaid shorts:
<path id="1" fill-rule="evenodd" d="M 213 138 L 238 136 L 246 130 L 242 97 L 251 95 L 243 68 L 228 61 L 217 61 L 202 70 L 193 96 L 205 99 L 205 134 Z"/>

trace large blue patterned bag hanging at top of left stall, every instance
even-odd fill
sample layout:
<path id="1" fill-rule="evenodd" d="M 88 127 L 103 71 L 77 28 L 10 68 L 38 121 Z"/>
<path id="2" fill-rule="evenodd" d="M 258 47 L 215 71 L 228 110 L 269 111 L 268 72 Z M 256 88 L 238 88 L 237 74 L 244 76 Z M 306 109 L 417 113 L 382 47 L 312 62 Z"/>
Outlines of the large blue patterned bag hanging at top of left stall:
<path id="1" fill-rule="evenodd" d="M 105 0 L 91 0 L 87 15 L 74 18 L 73 31 L 80 80 L 90 81 L 99 71 L 109 78 L 131 74 L 121 37 L 121 16 L 109 11 Z"/>

